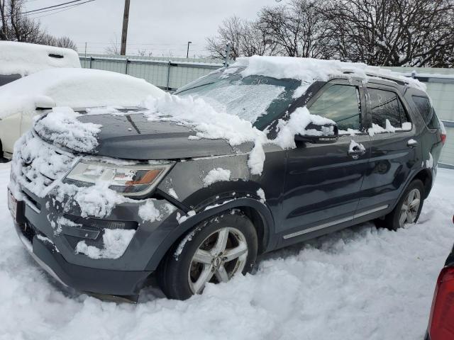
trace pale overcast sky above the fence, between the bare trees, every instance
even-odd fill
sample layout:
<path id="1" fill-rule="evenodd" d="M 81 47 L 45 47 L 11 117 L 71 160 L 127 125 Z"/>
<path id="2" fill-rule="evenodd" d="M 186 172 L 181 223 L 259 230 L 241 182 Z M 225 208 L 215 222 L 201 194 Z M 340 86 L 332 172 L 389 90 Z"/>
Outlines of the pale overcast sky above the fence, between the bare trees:
<path id="1" fill-rule="evenodd" d="M 68 1 L 28 0 L 26 11 Z M 131 0 L 127 54 L 146 49 L 157 57 L 186 57 L 187 42 L 192 41 L 190 56 L 207 55 L 206 37 L 216 35 L 224 18 L 253 19 L 262 6 L 276 5 L 276 0 Z M 112 43 L 121 42 L 123 8 L 123 0 L 95 0 L 31 18 L 51 35 L 70 37 L 79 52 L 84 52 L 87 42 L 88 53 L 104 53 Z"/>

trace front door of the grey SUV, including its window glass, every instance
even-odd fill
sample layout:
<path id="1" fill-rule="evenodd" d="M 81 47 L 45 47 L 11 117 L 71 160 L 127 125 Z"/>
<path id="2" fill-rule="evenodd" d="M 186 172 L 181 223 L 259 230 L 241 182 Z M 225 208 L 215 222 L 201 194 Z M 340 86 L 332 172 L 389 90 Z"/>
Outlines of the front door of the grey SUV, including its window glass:
<path id="1" fill-rule="evenodd" d="M 323 86 L 307 106 L 312 114 L 335 120 L 340 130 L 358 130 L 364 119 L 363 101 L 358 82 L 335 80 Z M 277 230 L 284 238 L 345 216 L 353 219 L 370 149 L 350 154 L 352 140 L 370 147 L 370 136 L 358 132 L 341 135 L 332 144 L 297 143 L 297 148 L 287 151 L 282 223 Z"/>

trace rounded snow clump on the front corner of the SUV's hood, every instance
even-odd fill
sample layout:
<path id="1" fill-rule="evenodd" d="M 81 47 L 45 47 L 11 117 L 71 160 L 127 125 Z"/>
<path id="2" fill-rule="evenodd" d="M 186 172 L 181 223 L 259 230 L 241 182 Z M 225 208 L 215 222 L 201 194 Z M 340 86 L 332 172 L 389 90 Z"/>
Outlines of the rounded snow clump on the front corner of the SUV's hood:
<path id="1" fill-rule="evenodd" d="M 89 152 L 98 146 L 96 135 L 101 132 L 101 125 L 82 123 L 77 120 L 79 115 L 71 108 L 53 108 L 34 128 L 45 140 L 78 152 Z"/>

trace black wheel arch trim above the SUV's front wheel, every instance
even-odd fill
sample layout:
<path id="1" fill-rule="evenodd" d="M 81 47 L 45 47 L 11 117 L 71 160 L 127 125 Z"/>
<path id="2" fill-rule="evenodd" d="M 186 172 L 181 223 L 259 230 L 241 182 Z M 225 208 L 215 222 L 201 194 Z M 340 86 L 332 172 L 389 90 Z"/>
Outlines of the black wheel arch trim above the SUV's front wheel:
<path id="1" fill-rule="evenodd" d="M 232 209 L 240 210 L 253 222 L 258 236 L 258 254 L 262 254 L 270 248 L 270 244 L 272 243 L 271 235 L 275 228 L 275 222 L 267 205 L 255 198 L 238 198 L 225 204 L 218 204 L 220 205 L 208 210 L 199 210 L 196 215 L 175 227 L 157 248 L 150 261 L 148 261 L 145 270 L 155 271 L 160 266 L 162 260 L 165 259 L 167 253 L 174 251 L 175 246 L 181 242 L 190 229 L 204 220 L 208 220 L 211 217 Z"/>

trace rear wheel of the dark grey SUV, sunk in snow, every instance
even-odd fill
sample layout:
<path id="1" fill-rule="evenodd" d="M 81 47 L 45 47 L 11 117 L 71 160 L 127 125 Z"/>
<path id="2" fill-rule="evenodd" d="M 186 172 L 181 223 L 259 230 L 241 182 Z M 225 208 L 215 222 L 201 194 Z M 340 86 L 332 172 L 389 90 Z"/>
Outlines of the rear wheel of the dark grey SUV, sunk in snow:
<path id="1" fill-rule="evenodd" d="M 402 198 L 397 202 L 394 210 L 389 212 L 388 215 L 385 215 L 383 219 L 375 220 L 375 225 L 377 227 L 385 227 L 389 230 L 397 230 L 408 223 L 416 223 L 423 208 L 424 194 L 423 182 L 415 179 L 406 187 Z M 410 204 L 409 199 L 411 200 Z M 417 206 L 415 199 L 419 200 L 419 205 Z M 406 209 L 406 207 L 409 207 L 409 209 Z M 406 214 L 405 216 L 404 213 Z"/>

